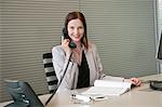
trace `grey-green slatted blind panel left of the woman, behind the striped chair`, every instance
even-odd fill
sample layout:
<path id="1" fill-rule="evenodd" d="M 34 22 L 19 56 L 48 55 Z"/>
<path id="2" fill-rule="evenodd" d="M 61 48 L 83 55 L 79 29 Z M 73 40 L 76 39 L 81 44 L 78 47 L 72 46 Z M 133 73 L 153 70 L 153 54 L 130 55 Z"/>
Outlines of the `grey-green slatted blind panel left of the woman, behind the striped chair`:
<path id="1" fill-rule="evenodd" d="M 0 102 L 9 99 L 4 79 L 25 80 L 37 94 L 48 93 L 42 54 L 60 43 L 64 18 L 79 10 L 79 1 L 3 0 L 0 4 Z"/>

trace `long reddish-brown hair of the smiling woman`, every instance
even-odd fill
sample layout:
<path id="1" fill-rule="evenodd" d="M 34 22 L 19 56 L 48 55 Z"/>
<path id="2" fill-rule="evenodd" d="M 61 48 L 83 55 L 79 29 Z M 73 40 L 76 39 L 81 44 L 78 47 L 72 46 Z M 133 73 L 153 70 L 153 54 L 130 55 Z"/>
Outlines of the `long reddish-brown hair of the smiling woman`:
<path id="1" fill-rule="evenodd" d="M 84 15 L 81 12 L 70 12 L 65 18 L 65 29 L 67 30 L 67 25 L 71 19 L 79 18 L 83 26 L 84 26 L 84 35 L 81 39 L 81 43 L 83 43 L 84 48 L 87 50 L 89 49 L 89 43 L 87 43 L 87 36 L 86 36 L 86 21 Z"/>

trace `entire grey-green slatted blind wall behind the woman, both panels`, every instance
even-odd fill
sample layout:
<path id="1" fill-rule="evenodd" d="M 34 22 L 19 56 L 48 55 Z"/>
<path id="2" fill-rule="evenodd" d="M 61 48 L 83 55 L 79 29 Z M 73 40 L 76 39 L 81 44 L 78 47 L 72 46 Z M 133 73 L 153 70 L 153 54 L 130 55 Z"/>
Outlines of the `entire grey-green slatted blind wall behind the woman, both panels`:
<path id="1" fill-rule="evenodd" d="M 42 54 L 59 44 L 64 17 L 71 11 L 84 13 L 107 75 L 157 73 L 153 1 L 0 1 L 0 102 L 10 99 L 4 79 L 25 80 L 37 94 L 48 93 Z"/>

